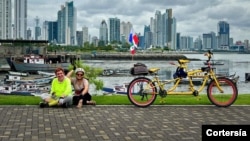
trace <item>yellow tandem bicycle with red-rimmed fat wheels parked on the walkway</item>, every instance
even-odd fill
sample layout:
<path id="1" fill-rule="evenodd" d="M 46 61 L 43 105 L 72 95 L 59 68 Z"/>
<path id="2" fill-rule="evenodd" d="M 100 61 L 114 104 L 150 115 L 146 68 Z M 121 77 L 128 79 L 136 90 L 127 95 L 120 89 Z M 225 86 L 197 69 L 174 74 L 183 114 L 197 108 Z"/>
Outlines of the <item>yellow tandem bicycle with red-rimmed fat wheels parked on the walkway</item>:
<path id="1" fill-rule="evenodd" d="M 213 53 L 208 51 L 207 66 L 199 69 L 187 70 L 189 60 L 178 60 L 178 67 L 174 78 L 171 80 L 160 80 L 158 76 L 159 68 L 150 68 L 148 73 L 153 76 L 152 79 L 142 73 L 133 79 L 127 88 L 127 96 L 132 104 L 138 107 L 148 107 L 154 103 L 157 95 L 165 98 L 167 95 L 194 95 L 198 96 L 203 89 L 207 88 L 207 96 L 210 102 L 218 107 L 228 107 L 232 105 L 238 96 L 236 83 L 226 76 L 216 76 L 214 68 L 210 65 Z M 202 83 L 199 86 L 194 85 L 194 79 L 200 78 Z M 188 89 L 178 90 L 177 87 L 188 81 Z M 169 84 L 168 88 L 165 86 Z M 182 84 L 183 85 L 183 84 Z"/>

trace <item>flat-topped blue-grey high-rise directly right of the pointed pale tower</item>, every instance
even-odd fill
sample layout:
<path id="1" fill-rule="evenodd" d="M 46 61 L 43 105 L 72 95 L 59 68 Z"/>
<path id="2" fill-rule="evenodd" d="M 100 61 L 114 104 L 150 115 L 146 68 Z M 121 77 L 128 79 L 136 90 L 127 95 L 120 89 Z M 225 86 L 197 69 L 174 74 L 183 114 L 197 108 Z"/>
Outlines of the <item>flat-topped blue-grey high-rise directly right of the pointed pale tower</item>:
<path id="1" fill-rule="evenodd" d="M 109 18 L 109 41 L 119 42 L 120 41 L 120 19 Z"/>

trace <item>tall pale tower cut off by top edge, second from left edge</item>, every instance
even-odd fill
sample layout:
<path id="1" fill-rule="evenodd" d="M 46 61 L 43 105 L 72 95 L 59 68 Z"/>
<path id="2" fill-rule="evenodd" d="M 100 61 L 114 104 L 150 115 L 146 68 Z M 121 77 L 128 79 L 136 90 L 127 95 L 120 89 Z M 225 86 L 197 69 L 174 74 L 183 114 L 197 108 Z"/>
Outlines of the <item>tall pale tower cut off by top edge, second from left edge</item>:
<path id="1" fill-rule="evenodd" d="M 15 0 L 14 7 L 14 38 L 27 39 L 27 0 Z"/>

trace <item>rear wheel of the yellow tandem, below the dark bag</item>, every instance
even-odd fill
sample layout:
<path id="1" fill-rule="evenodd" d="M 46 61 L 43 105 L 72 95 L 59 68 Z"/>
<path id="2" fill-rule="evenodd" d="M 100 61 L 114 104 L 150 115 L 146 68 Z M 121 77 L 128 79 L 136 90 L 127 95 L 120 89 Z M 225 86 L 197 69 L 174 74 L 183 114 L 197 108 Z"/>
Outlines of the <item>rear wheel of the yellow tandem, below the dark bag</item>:
<path id="1" fill-rule="evenodd" d="M 146 77 L 138 77 L 130 82 L 127 95 L 132 104 L 137 107 L 148 107 L 157 97 L 155 84 Z"/>

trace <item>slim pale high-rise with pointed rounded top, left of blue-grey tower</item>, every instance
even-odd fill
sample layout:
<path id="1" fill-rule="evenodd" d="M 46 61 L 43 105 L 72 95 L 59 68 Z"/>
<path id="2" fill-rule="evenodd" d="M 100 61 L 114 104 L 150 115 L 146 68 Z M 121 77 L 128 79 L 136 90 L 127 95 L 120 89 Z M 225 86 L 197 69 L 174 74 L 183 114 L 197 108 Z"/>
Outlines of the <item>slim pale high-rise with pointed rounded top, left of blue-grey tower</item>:
<path id="1" fill-rule="evenodd" d="M 100 25 L 99 41 L 103 42 L 103 45 L 108 44 L 108 25 L 105 20 L 102 20 Z"/>

